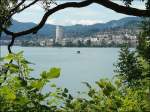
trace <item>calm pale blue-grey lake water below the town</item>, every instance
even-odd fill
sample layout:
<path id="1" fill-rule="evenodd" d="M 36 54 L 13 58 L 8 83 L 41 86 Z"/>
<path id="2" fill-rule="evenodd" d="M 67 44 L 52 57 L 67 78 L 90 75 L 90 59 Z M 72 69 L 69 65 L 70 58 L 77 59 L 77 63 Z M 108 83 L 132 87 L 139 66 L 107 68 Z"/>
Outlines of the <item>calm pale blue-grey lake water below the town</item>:
<path id="1" fill-rule="evenodd" d="M 118 58 L 119 48 L 41 48 L 13 47 L 14 52 L 24 51 L 26 58 L 34 63 L 31 73 L 38 77 L 39 72 L 51 67 L 61 68 L 61 76 L 53 80 L 58 86 L 68 88 L 72 93 L 85 90 L 81 82 L 94 84 L 100 78 L 111 79 L 114 75 L 113 64 Z M 80 54 L 76 52 L 80 51 Z M 1 47 L 1 56 L 7 48 Z M 45 88 L 45 89 L 48 89 Z"/>

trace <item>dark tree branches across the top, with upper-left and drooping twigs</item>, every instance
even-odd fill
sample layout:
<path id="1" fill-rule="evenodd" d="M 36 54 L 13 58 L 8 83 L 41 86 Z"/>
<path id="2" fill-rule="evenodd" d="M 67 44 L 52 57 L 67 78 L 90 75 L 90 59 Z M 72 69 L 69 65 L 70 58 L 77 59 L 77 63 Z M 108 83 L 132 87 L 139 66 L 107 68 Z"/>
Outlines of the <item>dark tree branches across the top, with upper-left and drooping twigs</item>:
<path id="1" fill-rule="evenodd" d="M 18 8 L 24 3 L 24 1 L 26 1 L 26 0 L 22 0 L 22 2 L 20 2 L 12 10 L 13 13 L 10 13 L 10 16 L 8 17 L 8 19 L 10 19 L 14 14 L 19 13 L 19 12 L 27 9 L 28 7 L 32 6 L 33 4 L 38 2 L 39 0 L 34 0 L 30 4 L 28 4 L 27 6 L 24 6 L 23 8 L 18 10 Z M 112 9 L 115 12 L 126 14 L 126 15 L 139 16 L 139 17 L 150 17 L 150 10 L 148 10 L 148 9 L 147 10 L 142 10 L 142 9 L 127 7 L 127 6 L 122 6 L 122 5 L 119 5 L 117 3 L 112 2 L 110 0 L 85 0 L 85 1 L 82 1 L 82 2 L 68 2 L 68 3 L 60 4 L 60 5 L 52 8 L 52 9 L 49 9 L 44 14 L 44 16 L 41 19 L 41 21 L 39 22 L 39 24 L 36 25 L 35 27 L 31 28 L 31 29 L 21 31 L 21 32 L 11 32 L 11 31 L 7 30 L 6 28 L 1 28 L 2 25 L 0 25 L 0 29 L 2 29 L 7 35 L 12 36 L 11 42 L 8 45 L 9 53 L 12 53 L 11 47 L 13 46 L 16 37 L 27 35 L 27 34 L 30 34 L 30 33 L 33 33 L 33 34 L 37 33 L 44 26 L 44 24 L 47 21 L 48 17 L 50 15 L 52 15 L 53 13 L 56 13 L 57 11 L 63 10 L 65 8 L 70 8 L 70 7 L 74 7 L 74 8 L 85 7 L 85 6 L 88 6 L 92 3 L 100 4 L 100 5 L 102 5 L 106 8 Z M 104 13 L 104 12 L 102 12 L 102 13 Z M 12 61 L 10 63 L 12 63 Z"/>

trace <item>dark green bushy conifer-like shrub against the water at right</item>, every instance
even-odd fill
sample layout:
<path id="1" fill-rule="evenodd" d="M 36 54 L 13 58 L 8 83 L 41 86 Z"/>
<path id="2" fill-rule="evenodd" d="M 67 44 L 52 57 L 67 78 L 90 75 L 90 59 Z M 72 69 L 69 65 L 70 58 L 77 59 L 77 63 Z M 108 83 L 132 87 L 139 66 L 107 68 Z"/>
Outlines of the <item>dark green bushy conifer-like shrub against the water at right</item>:
<path id="1" fill-rule="evenodd" d="M 135 51 L 130 51 L 128 46 L 122 47 L 115 72 L 119 74 L 123 82 L 130 86 L 138 84 L 136 81 L 144 78 L 142 69 Z"/>

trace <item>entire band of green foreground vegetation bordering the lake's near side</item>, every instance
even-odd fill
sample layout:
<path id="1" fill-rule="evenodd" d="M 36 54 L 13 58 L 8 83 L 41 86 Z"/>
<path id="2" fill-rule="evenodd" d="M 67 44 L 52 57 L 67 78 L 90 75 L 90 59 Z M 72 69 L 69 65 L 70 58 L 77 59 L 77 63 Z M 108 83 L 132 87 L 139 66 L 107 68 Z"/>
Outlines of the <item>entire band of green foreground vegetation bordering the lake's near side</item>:
<path id="1" fill-rule="evenodd" d="M 89 90 L 78 97 L 50 82 L 59 77 L 59 68 L 43 71 L 39 78 L 34 78 L 30 76 L 31 63 L 23 57 L 23 52 L 8 54 L 1 58 L 0 111 L 149 112 L 149 30 L 141 35 L 136 51 L 130 51 L 127 46 L 121 48 L 113 81 L 100 79 L 96 86 L 85 82 Z M 53 88 L 52 91 L 42 92 L 45 86 Z"/>

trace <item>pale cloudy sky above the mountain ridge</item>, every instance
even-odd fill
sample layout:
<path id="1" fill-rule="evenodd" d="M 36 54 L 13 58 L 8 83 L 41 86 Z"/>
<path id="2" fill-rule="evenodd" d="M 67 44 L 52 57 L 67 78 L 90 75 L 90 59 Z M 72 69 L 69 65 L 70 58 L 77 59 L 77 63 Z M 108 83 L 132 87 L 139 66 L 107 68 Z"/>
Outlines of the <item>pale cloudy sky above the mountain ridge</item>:
<path id="1" fill-rule="evenodd" d="M 119 1 L 114 2 L 122 4 L 122 2 Z M 58 2 L 58 4 L 61 3 L 62 2 Z M 140 9 L 145 8 L 144 3 L 140 2 L 139 0 L 133 2 L 133 7 Z M 42 5 L 40 3 L 37 3 L 32 7 L 24 10 L 22 13 L 16 14 L 15 16 L 13 16 L 13 19 L 19 22 L 39 23 L 43 15 L 44 10 L 42 8 Z M 46 23 L 63 26 L 70 26 L 75 24 L 92 25 L 96 23 L 106 23 L 111 20 L 118 20 L 124 17 L 129 16 L 116 13 L 98 4 L 91 4 L 84 8 L 63 9 L 51 15 Z"/>

